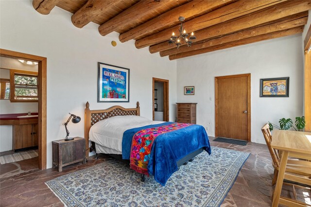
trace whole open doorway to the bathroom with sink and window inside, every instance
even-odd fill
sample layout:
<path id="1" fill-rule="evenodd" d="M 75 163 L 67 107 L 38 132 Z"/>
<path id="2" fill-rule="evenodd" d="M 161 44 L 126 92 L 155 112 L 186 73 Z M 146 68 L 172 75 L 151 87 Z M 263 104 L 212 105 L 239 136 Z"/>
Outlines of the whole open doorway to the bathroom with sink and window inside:
<path id="1" fill-rule="evenodd" d="M 15 160 L 16 156 L 13 156 L 14 158 L 13 162 L 7 162 L 8 159 L 4 159 L 6 163 L 1 164 L 1 171 L 0 171 L 1 178 L 2 176 L 10 176 L 15 173 L 29 171 L 31 169 L 44 170 L 46 169 L 46 156 L 47 156 L 46 153 L 47 152 L 46 151 L 47 150 L 46 149 L 47 58 L 4 49 L 0 49 L 0 58 L 1 58 L 1 68 L 4 69 L 3 74 L 8 73 L 7 70 L 5 69 L 10 70 L 9 76 L 7 76 L 6 78 L 10 80 L 9 82 L 10 85 L 3 84 L 3 86 L 5 86 L 3 87 L 2 91 L 4 93 L 4 99 L 0 100 L 1 113 L 3 112 L 9 116 L 3 117 L 1 116 L 0 125 L 1 128 L 2 125 L 3 128 L 7 126 L 8 126 L 7 128 L 11 127 L 11 130 L 10 129 L 6 130 L 9 133 L 5 137 L 12 140 L 9 148 L 3 149 L 5 154 L 3 152 L 2 155 L 3 156 L 6 156 L 6 154 L 12 155 L 15 154 L 17 151 L 20 153 L 24 153 L 25 151 L 28 152 L 28 149 L 32 150 L 34 146 L 35 147 L 37 146 L 38 148 L 37 158 L 35 158 L 35 155 L 31 154 L 31 156 L 32 157 L 34 156 L 33 158 L 36 159 L 35 163 L 32 162 L 33 161 L 32 158 L 24 159 L 28 158 L 29 156 L 27 152 L 25 153 L 26 155 L 17 156 L 18 160 L 20 160 L 20 157 L 23 158 L 23 160 L 21 161 L 16 161 Z M 6 65 L 4 63 L 6 63 Z M 23 66 L 22 64 L 24 64 L 25 67 L 26 66 L 28 67 L 26 67 L 27 69 L 25 67 L 19 68 L 17 67 L 18 64 L 20 66 Z M 35 66 L 36 72 L 30 69 L 32 68 L 30 64 L 32 64 L 33 67 Z M 19 82 L 17 80 L 19 80 Z M 28 82 L 26 83 L 25 82 L 26 80 L 32 81 L 33 84 L 28 84 Z M 10 86 L 11 93 L 8 92 L 9 90 L 7 90 L 7 86 Z M 10 97 L 10 99 L 5 100 L 5 95 L 7 95 L 6 92 L 8 92 L 8 94 L 11 94 L 7 96 Z M 24 103 L 21 102 L 21 99 L 22 100 L 25 99 L 24 100 L 25 102 Z M 4 105 L 4 103 L 6 104 Z M 35 106 L 31 105 L 33 103 L 36 103 Z M 11 107 L 12 104 L 14 105 L 18 104 L 18 108 L 13 110 Z M 22 108 L 20 104 L 27 105 L 27 107 L 24 108 L 25 110 L 17 111 L 17 109 L 20 110 Z M 4 106 L 6 108 L 3 108 Z M 8 111 L 9 109 L 11 111 Z M 28 113 L 29 111 L 30 113 Z M 5 133 L 5 131 L 1 130 L 1 138 L 2 133 Z M 18 139 L 15 142 L 13 140 L 14 138 L 21 138 L 21 140 Z M 3 147 L 4 146 L 2 146 L 1 143 L 1 148 Z M 12 151 L 13 153 L 11 153 L 10 151 Z M 18 163 L 24 161 L 25 161 L 24 167 Z M 7 167 L 4 167 L 4 165 L 7 165 Z M 17 170 L 13 169 L 12 166 L 13 167 L 18 166 L 18 169 Z"/>

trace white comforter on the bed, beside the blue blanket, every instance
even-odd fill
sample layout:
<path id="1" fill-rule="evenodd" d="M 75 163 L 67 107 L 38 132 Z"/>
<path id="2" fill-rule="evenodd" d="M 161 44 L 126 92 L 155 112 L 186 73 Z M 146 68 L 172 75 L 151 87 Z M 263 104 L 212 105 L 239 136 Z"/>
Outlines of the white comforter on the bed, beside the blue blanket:
<path id="1" fill-rule="evenodd" d="M 89 140 L 96 144 L 97 153 L 122 154 L 123 133 L 132 128 L 163 123 L 140 116 L 117 116 L 96 122 L 89 131 Z M 100 148 L 98 150 L 98 148 Z"/>

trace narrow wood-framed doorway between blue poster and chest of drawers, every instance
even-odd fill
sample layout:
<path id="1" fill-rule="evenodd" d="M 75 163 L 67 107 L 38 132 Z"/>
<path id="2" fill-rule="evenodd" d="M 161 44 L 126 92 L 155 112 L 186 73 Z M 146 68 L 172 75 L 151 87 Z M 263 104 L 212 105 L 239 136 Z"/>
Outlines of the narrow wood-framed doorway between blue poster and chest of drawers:
<path id="1" fill-rule="evenodd" d="M 169 80 L 152 78 L 152 120 L 169 121 Z"/>

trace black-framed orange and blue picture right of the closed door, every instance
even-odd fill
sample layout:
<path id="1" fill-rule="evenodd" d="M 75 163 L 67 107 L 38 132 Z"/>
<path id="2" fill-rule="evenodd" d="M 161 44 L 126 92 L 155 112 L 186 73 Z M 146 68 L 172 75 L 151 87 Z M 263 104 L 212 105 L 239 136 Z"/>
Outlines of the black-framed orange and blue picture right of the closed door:
<path id="1" fill-rule="evenodd" d="M 260 97 L 289 97 L 290 77 L 260 79 Z"/>

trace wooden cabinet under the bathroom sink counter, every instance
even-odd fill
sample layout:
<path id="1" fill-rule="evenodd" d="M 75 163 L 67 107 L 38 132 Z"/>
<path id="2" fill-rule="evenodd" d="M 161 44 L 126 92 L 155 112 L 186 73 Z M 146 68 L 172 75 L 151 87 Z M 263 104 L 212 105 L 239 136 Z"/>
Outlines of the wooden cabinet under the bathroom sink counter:
<path id="1" fill-rule="evenodd" d="M 38 146 L 38 124 L 13 125 L 13 150 Z"/>

